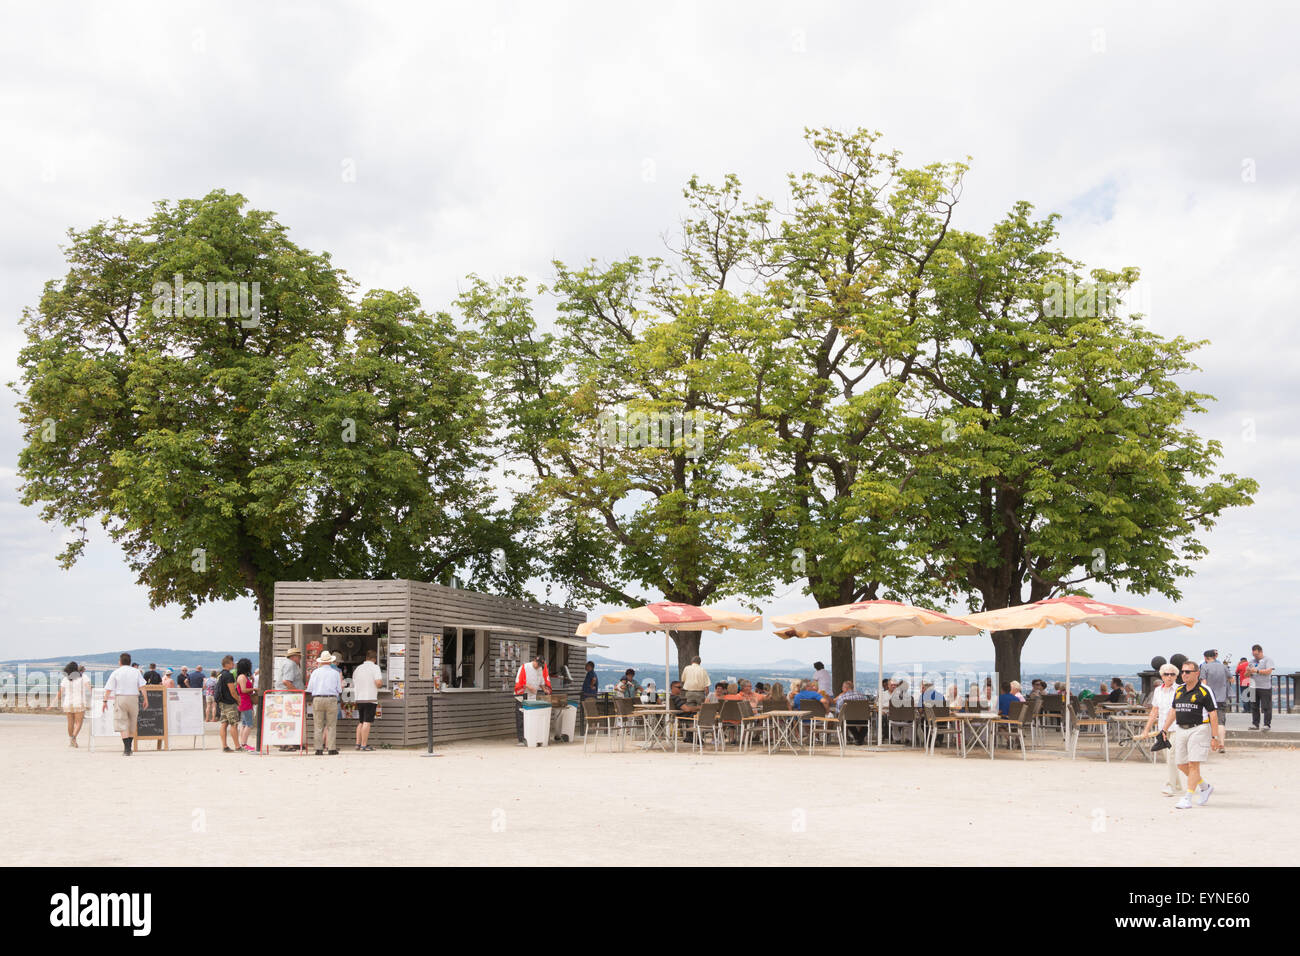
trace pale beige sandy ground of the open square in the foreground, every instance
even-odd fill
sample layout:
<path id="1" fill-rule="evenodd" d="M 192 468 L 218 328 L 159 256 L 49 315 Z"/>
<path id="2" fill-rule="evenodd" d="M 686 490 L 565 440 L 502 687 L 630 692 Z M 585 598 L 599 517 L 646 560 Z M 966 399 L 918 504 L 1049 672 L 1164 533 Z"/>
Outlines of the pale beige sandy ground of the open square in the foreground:
<path id="1" fill-rule="evenodd" d="M 1216 757 L 1209 805 L 1175 812 L 1164 767 L 1136 758 L 584 756 L 581 741 L 257 757 L 221 753 L 212 734 L 205 752 L 126 760 L 103 744 L 66 747 L 57 717 L 0 715 L 0 862 L 1123 865 L 1179 847 L 1230 866 L 1243 832 L 1268 834 L 1253 866 L 1300 852 L 1294 749 Z M 1206 839 L 1187 851 L 1190 825 Z"/>

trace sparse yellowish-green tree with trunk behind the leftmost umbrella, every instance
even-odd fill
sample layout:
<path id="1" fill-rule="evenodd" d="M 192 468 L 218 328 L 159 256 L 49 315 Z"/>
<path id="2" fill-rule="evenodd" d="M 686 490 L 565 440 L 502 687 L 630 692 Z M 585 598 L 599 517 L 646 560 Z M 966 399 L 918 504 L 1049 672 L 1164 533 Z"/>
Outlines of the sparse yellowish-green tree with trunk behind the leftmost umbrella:
<path id="1" fill-rule="evenodd" d="M 549 574 L 578 600 L 640 605 L 645 588 L 701 605 L 767 588 L 741 541 L 760 464 L 725 403 L 770 333 L 757 303 L 719 286 L 658 260 L 556 263 L 554 330 L 523 280 L 476 280 L 460 299 Z M 679 665 L 698 652 L 699 632 L 672 637 Z"/>

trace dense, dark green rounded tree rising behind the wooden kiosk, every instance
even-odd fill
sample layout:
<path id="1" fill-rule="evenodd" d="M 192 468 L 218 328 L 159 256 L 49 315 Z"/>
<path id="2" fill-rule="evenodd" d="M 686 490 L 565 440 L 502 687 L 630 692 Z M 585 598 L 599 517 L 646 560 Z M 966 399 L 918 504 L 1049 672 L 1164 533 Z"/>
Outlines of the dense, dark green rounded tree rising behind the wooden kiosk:
<path id="1" fill-rule="evenodd" d="M 276 580 L 459 567 L 508 589 L 526 562 L 502 559 L 472 339 L 410 293 L 354 306 L 326 255 L 244 206 L 214 191 L 70 233 L 23 313 L 20 473 L 77 531 L 65 566 L 98 520 L 152 606 L 252 596 L 266 687 Z"/>

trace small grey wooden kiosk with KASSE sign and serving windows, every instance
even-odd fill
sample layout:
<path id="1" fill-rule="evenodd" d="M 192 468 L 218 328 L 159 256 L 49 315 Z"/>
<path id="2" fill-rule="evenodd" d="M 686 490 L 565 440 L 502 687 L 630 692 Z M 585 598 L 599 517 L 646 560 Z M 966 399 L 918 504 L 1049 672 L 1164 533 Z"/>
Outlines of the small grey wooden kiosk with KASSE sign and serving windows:
<path id="1" fill-rule="evenodd" d="M 424 744 L 429 697 L 434 741 L 514 736 L 520 663 L 541 648 L 551 687 L 576 704 L 588 648 L 599 646 L 573 636 L 582 611 L 424 581 L 277 581 L 274 600 L 277 675 L 291 646 L 307 676 L 329 650 L 342 657 L 347 697 L 352 670 L 376 652 L 384 687 L 372 747 Z M 350 747 L 355 711 L 344 702 L 343 713 L 338 739 Z M 313 734 L 308 717 L 308 741 Z"/>

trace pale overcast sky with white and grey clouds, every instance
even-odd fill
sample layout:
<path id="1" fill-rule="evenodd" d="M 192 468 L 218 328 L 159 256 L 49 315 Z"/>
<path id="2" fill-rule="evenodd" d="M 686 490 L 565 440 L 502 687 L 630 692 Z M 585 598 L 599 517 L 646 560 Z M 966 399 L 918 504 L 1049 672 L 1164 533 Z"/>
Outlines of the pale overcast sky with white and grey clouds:
<path id="1" fill-rule="evenodd" d="M 18 319 L 65 272 L 69 228 L 153 202 L 244 194 L 360 289 L 446 308 L 465 277 L 545 280 L 663 252 L 692 174 L 779 198 L 809 166 L 805 127 L 868 127 L 905 161 L 966 160 L 957 226 L 1017 200 L 1058 212 L 1061 247 L 1136 265 L 1148 324 L 1209 339 L 1187 386 L 1225 471 L 1260 483 L 1228 512 L 1176 609 L 1193 631 L 1074 635 L 1076 661 L 1264 644 L 1300 665 L 1300 12 L 1283 4 L 6 4 L 0 31 L 0 382 Z M 251 648 L 251 600 L 183 620 L 152 610 L 95 536 L 20 503 L 25 437 L 0 402 L 0 659 L 116 648 Z M 1173 609 L 1158 596 L 1097 597 Z M 796 588 L 768 614 L 811 607 Z M 601 613 L 603 607 L 586 609 Z M 660 637 L 604 652 L 654 661 Z M 826 641 L 706 636 L 729 663 Z M 987 659 L 985 637 L 909 639 L 909 661 Z M 874 656 L 874 648 L 870 652 Z M 1062 635 L 1024 659 L 1060 661 Z"/>

